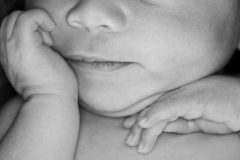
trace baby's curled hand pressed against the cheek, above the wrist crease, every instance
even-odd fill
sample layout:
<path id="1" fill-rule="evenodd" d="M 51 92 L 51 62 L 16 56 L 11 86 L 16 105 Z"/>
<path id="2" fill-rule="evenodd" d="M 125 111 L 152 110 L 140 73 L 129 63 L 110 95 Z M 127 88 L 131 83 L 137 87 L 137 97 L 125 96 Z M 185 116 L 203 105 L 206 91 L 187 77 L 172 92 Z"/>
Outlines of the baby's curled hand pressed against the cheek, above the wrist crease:
<path id="1" fill-rule="evenodd" d="M 1 24 L 1 64 L 15 90 L 33 95 L 77 96 L 77 81 L 64 59 L 50 47 L 51 17 L 41 9 L 15 11 Z"/>

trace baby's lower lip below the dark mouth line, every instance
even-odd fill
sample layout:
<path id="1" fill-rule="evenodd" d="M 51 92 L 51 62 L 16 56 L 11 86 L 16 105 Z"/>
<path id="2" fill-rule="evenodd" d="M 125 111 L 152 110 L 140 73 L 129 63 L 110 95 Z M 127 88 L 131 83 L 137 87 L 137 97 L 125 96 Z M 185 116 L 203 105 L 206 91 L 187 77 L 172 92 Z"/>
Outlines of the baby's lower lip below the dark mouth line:
<path id="1" fill-rule="evenodd" d="M 79 64 L 80 67 L 84 69 L 93 69 L 93 70 L 102 70 L 102 71 L 115 71 L 132 64 L 131 62 L 110 62 L 110 61 L 86 62 L 83 60 L 75 61 L 75 63 Z"/>

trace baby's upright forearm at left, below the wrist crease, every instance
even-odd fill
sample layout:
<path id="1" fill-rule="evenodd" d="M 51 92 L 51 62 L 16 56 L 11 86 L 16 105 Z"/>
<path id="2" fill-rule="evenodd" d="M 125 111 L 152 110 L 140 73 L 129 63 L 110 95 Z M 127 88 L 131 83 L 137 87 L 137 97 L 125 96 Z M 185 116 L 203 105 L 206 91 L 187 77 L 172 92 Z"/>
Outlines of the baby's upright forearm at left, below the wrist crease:
<path id="1" fill-rule="evenodd" d="M 79 131 L 77 100 L 39 95 L 25 102 L 0 143 L 1 160 L 73 160 Z"/>

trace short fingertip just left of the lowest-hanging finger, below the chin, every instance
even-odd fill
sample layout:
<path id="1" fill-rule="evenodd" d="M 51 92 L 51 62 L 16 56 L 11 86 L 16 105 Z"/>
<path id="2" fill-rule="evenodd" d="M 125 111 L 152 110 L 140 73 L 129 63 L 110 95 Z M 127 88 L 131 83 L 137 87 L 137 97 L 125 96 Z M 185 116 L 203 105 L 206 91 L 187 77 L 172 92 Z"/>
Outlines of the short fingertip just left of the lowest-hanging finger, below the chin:
<path id="1" fill-rule="evenodd" d="M 140 139 L 141 132 L 142 132 L 142 128 L 137 123 L 135 123 L 126 138 L 125 143 L 130 147 L 137 146 Z"/>

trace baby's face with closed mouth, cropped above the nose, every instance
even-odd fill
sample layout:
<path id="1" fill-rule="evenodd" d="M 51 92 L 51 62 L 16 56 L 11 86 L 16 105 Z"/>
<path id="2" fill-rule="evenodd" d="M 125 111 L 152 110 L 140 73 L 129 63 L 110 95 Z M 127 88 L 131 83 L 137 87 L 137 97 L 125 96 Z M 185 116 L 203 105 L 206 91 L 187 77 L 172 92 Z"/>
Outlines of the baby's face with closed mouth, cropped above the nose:
<path id="1" fill-rule="evenodd" d="M 54 46 L 73 68 L 81 104 L 136 113 L 220 69 L 237 0 L 27 0 L 56 23 Z"/>

